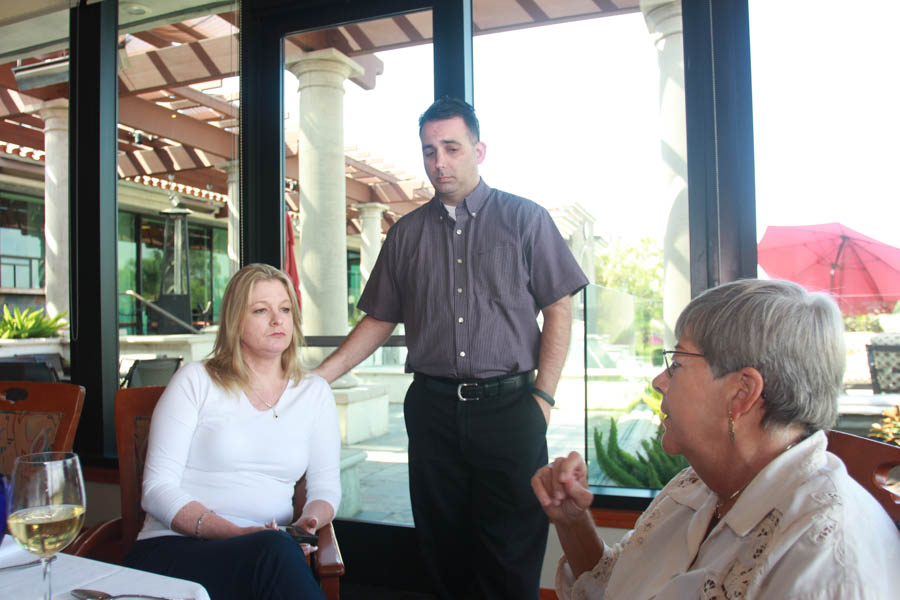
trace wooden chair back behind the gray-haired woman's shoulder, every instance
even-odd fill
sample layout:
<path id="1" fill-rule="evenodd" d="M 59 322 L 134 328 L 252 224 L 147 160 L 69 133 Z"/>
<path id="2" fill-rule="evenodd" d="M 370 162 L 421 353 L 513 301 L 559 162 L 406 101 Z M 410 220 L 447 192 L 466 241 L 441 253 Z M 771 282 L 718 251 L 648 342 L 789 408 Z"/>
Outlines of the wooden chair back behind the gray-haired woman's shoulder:
<path id="1" fill-rule="evenodd" d="M 887 487 L 891 469 L 900 466 L 900 446 L 829 431 L 828 451 L 844 461 L 850 476 L 878 500 L 895 523 L 900 522 L 900 495 Z"/>

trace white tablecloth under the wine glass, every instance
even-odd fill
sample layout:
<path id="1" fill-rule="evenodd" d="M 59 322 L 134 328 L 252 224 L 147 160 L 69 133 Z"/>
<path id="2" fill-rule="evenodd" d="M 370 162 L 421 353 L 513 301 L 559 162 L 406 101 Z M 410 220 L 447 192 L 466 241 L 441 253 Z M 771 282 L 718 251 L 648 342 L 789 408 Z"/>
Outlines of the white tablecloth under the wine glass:
<path id="1" fill-rule="evenodd" d="M 36 555 L 24 550 L 9 535 L 0 543 L 0 567 L 31 562 Z M 109 563 L 57 554 L 50 566 L 54 600 L 71 600 L 68 592 L 78 588 L 100 590 L 110 594 L 153 594 L 169 598 L 209 600 L 199 583 L 165 577 Z M 0 598 L 42 598 L 41 567 L 0 571 Z"/>

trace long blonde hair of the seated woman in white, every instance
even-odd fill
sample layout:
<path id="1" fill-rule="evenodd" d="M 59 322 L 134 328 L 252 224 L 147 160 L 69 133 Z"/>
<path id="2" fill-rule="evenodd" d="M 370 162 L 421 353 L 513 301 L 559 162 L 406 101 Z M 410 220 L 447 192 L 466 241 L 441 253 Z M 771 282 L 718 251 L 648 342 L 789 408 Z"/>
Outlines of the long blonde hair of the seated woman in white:
<path id="1" fill-rule="evenodd" d="M 228 391 L 250 391 L 250 369 L 241 354 L 241 324 L 247 314 L 253 286 L 260 281 L 273 280 L 281 282 L 291 299 L 291 320 L 294 323 L 291 343 L 281 354 L 281 368 L 294 382 L 303 378 L 300 365 L 303 333 L 300 328 L 300 304 L 297 302 L 294 285 L 283 271 L 270 265 L 254 263 L 235 273 L 225 288 L 216 344 L 212 357 L 206 361 L 209 376 Z"/>

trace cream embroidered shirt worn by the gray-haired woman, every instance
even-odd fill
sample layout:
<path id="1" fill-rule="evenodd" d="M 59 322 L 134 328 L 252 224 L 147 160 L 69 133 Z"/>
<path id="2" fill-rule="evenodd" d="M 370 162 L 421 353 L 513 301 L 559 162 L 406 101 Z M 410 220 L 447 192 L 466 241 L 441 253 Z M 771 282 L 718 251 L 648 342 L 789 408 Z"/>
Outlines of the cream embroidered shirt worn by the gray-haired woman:
<path id="1" fill-rule="evenodd" d="M 560 599 L 897 598 L 900 533 L 826 444 L 769 463 L 706 539 L 718 497 L 685 469 L 593 570 L 560 560 Z"/>

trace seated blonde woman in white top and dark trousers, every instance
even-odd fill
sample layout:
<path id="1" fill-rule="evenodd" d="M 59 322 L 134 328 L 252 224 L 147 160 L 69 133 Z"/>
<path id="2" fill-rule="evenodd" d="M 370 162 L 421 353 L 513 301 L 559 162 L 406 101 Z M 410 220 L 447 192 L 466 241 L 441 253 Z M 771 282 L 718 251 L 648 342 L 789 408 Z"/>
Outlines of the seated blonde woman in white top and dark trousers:
<path id="1" fill-rule="evenodd" d="M 287 276 L 249 265 L 222 300 L 212 357 L 175 374 L 153 411 L 147 511 L 129 566 L 197 581 L 213 600 L 323 598 L 301 547 L 275 524 L 329 523 L 341 499 L 331 389 L 300 369 L 300 311 Z"/>

